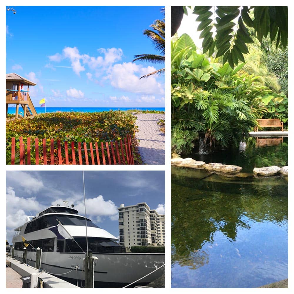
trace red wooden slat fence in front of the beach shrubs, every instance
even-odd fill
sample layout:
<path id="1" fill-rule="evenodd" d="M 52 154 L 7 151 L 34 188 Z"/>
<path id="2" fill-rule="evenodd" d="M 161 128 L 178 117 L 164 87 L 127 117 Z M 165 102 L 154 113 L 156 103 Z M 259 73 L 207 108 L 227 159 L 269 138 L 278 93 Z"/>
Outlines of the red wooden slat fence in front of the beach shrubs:
<path id="1" fill-rule="evenodd" d="M 46 139 L 26 139 L 19 137 L 19 150 L 15 137 L 11 140 L 11 164 L 134 164 L 131 136 L 119 141 L 111 142 L 61 142 L 50 139 L 50 146 Z M 32 142 L 33 141 L 33 142 Z M 63 145 L 63 146 L 62 146 Z M 75 146 L 76 145 L 76 146 Z M 41 149 L 41 150 L 39 150 Z M 18 154 L 19 152 L 19 154 Z M 31 159 L 35 163 L 31 163 Z"/>

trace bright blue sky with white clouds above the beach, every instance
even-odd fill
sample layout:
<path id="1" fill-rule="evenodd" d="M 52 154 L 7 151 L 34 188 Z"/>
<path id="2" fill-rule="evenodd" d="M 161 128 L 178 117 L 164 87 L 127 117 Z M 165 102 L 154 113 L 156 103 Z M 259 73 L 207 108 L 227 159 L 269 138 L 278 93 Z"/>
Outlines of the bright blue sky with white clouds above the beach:
<path id="1" fill-rule="evenodd" d="M 164 107 L 163 64 L 134 62 L 159 54 L 143 35 L 161 6 L 13 6 L 6 11 L 6 73 L 37 85 L 35 106 Z"/>

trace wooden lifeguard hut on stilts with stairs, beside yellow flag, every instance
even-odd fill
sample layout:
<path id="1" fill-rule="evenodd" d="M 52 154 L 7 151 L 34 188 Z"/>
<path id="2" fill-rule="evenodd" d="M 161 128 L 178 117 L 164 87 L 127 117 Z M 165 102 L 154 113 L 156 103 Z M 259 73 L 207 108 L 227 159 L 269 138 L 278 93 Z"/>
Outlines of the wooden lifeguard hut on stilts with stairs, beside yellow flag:
<path id="1" fill-rule="evenodd" d="M 9 104 L 16 104 L 15 118 L 19 115 L 19 105 L 24 110 L 24 117 L 37 115 L 29 95 L 29 86 L 36 84 L 18 74 L 6 74 L 6 118 Z"/>

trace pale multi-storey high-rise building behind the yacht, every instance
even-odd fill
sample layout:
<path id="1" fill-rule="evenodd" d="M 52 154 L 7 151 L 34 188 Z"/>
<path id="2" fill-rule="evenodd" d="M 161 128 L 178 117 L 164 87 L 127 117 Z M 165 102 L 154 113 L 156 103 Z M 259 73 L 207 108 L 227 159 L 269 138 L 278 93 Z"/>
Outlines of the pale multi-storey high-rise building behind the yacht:
<path id="1" fill-rule="evenodd" d="M 118 208 L 119 243 L 131 246 L 164 246 L 164 214 L 151 210 L 146 202 Z"/>

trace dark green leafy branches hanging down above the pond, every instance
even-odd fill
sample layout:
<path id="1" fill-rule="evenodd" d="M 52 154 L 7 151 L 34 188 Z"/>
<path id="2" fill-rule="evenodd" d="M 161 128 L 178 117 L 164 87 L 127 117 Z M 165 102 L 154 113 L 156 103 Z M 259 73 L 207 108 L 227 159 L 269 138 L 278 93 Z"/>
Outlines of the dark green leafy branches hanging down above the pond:
<path id="1" fill-rule="evenodd" d="M 228 61 L 231 68 L 238 65 L 239 60 L 244 62 L 244 54 L 249 52 L 247 44 L 253 43 L 246 26 L 254 28 L 260 42 L 269 34 L 271 42 L 277 37 L 277 48 L 280 44 L 286 48 L 288 6 L 215 6 L 217 17 L 214 20 L 212 7 L 195 6 L 193 9 L 193 14 L 198 15 L 196 21 L 200 21 L 197 30 L 201 31 L 200 38 L 203 38 L 203 53 L 208 52 L 211 56 L 216 49 L 216 57 L 223 56 L 223 64 Z M 184 10 L 187 14 L 185 6 Z M 250 11 L 253 11 L 253 17 Z"/>

